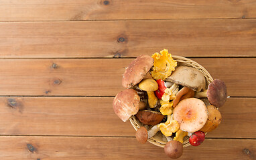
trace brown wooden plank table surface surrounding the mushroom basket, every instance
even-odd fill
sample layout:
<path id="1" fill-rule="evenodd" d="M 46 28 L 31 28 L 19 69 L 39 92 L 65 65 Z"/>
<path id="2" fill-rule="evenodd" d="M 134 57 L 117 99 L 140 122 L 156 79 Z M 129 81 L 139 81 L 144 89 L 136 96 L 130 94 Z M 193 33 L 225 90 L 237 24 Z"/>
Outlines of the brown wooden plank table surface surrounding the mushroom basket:
<path id="1" fill-rule="evenodd" d="M 256 1 L 0 1 L 0 159 L 169 159 L 113 112 L 138 55 L 227 83 L 222 123 L 181 159 L 256 159 Z"/>

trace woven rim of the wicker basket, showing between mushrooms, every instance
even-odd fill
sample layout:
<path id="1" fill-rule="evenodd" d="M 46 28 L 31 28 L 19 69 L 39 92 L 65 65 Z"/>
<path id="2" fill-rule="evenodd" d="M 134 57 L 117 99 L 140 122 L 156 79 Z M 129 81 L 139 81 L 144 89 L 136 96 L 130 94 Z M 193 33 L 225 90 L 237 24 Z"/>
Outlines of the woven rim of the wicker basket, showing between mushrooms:
<path id="1" fill-rule="evenodd" d="M 202 65 L 198 64 L 196 61 L 193 61 L 192 59 L 188 59 L 186 57 L 182 57 L 182 56 L 178 56 L 178 55 L 172 55 L 172 57 L 174 60 L 177 61 L 178 66 L 184 65 L 184 66 L 193 67 L 193 68 L 198 69 L 204 75 L 204 77 L 206 79 L 206 87 L 205 88 L 207 88 L 208 85 L 210 83 L 212 83 L 213 78 L 210 75 L 210 73 L 208 73 L 208 71 L 206 69 L 204 69 L 204 67 L 202 67 Z M 205 101 L 208 101 L 208 99 L 204 99 L 204 102 Z M 134 115 L 129 118 L 129 121 L 131 122 L 131 125 L 133 125 L 133 128 L 135 129 L 135 131 L 137 131 L 137 129 L 139 129 L 139 127 L 142 126 L 142 125 L 139 125 L 139 123 Z M 147 139 L 147 141 L 149 141 L 149 143 L 152 143 L 153 145 L 156 145 L 158 147 L 164 147 L 166 145 L 166 141 L 159 141 L 159 139 L 155 139 L 155 137 L 151 137 L 151 138 Z M 183 147 L 188 147 L 188 146 L 190 146 L 190 143 L 188 141 L 188 136 L 187 136 L 184 139 Z"/>

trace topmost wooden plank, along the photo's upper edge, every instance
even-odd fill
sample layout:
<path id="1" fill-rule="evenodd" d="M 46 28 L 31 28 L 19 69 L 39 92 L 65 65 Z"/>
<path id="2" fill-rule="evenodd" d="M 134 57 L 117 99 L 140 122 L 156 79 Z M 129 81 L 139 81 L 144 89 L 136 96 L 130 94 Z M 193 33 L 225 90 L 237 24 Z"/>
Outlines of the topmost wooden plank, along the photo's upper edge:
<path id="1" fill-rule="evenodd" d="M 2 0 L 1 21 L 73 21 L 97 19 L 255 18 L 256 2 L 243 1 L 93 1 Z"/>

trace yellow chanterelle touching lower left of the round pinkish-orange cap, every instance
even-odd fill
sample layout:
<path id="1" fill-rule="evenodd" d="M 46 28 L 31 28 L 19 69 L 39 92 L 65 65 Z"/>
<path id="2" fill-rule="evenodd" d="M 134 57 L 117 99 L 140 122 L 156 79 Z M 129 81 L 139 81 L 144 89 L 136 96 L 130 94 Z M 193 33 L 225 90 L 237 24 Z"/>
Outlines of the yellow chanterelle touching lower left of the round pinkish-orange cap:
<path id="1" fill-rule="evenodd" d="M 168 115 L 166 123 L 160 123 L 158 127 L 160 128 L 160 131 L 163 133 L 163 135 L 171 136 L 172 133 L 178 131 L 180 124 L 178 121 L 174 120 L 171 115 Z"/>

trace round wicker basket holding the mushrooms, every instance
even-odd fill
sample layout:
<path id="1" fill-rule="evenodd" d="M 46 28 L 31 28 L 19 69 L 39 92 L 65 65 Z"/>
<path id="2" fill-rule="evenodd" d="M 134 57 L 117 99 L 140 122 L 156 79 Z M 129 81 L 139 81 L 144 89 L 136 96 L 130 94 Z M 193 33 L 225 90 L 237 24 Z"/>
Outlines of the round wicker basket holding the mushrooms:
<path id="1" fill-rule="evenodd" d="M 185 57 L 180 57 L 180 56 L 175 56 L 175 55 L 172 57 L 174 60 L 177 61 L 178 66 L 183 65 L 183 66 L 194 67 L 194 68 L 198 69 L 204 75 L 204 77 L 206 79 L 206 87 L 205 88 L 207 88 L 208 85 L 210 83 L 212 83 L 213 79 L 210 76 L 210 73 L 208 73 L 208 71 L 206 71 L 206 69 L 204 69 L 204 67 L 202 67 L 202 65 L 199 65 L 195 61 L 192 61 L 191 59 L 187 59 Z M 204 103 L 206 103 L 206 105 L 210 104 L 208 99 L 202 99 L 202 101 L 204 101 Z M 148 125 L 143 125 L 139 120 L 137 120 L 137 118 L 135 116 L 131 116 L 129 120 L 131 122 L 131 125 L 133 125 L 133 127 L 136 131 L 141 126 L 144 126 L 146 129 L 150 129 L 150 127 L 151 127 Z M 190 145 L 188 139 L 189 139 L 188 136 L 184 137 L 183 147 L 188 147 Z M 147 139 L 147 141 L 149 141 L 153 145 L 157 145 L 159 147 L 164 147 L 166 145 L 166 143 L 168 142 L 166 137 L 160 131 L 157 132 L 150 139 Z"/>

